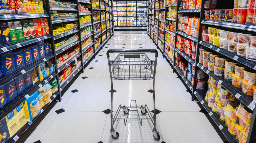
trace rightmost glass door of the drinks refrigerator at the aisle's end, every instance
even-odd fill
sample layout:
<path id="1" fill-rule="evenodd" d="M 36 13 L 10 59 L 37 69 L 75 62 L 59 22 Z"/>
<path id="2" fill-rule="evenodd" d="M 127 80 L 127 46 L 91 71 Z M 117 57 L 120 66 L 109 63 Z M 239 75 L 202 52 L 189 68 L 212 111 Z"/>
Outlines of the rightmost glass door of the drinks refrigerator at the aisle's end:
<path id="1" fill-rule="evenodd" d="M 146 26 L 147 2 L 137 1 L 137 26 Z"/>

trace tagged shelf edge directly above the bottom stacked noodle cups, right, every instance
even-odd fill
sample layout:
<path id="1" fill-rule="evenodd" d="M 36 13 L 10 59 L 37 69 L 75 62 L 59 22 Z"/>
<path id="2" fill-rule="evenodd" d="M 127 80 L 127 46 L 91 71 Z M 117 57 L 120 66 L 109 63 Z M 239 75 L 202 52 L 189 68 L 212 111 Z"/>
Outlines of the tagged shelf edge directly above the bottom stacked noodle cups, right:
<path id="1" fill-rule="evenodd" d="M 203 67 L 202 64 L 197 64 L 197 66 L 202 69 L 206 74 L 211 76 L 214 80 L 218 81 L 225 89 L 227 89 L 231 94 L 244 103 L 246 106 L 252 102 L 252 96 L 246 95 L 241 91 L 241 88 L 234 87 L 232 82 L 226 81 L 223 76 L 217 76 L 212 71 L 208 71 L 208 68 Z M 252 109 L 253 111 L 253 109 Z"/>

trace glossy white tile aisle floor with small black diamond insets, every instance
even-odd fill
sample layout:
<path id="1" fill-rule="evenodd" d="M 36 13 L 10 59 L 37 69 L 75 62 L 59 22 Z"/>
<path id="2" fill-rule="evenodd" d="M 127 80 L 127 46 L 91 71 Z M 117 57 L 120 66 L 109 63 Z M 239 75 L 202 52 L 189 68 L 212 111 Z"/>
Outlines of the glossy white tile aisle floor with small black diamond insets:
<path id="1" fill-rule="evenodd" d="M 143 121 L 142 126 L 138 120 L 130 120 L 126 126 L 123 120 L 119 120 L 114 124 L 114 128 L 120 136 L 118 139 L 111 137 L 110 114 L 102 112 L 110 109 L 111 96 L 106 51 L 108 49 L 156 49 L 153 41 L 144 34 L 145 31 L 115 33 L 103 50 L 97 54 L 96 59 L 62 96 L 62 101 L 58 102 L 38 125 L 26 143 L 38 140 L 42 143 L 98 143 L 100 141 L 103 143 L 221 143 L 219 135 L 205 115 L 199 112 L 197 103 L 191 101 L 191 95 L 185 91 L 187 89 L 172 72 L 170 65 L 162 58 L 160 52 L 155 82 L 156 109 L 161 111 L 156 116 L 156 128 L 160 133 L 160 140 L 154 140 L 153 124 L 147 120 Z M 117 54 L 113 55 L 117 56 Z M 148 56 L 154 58 L 152 54 Z M 94 69 L 89 69 L 90 67 Z M 84 76 L 88 78 L 82 79 L 81 77 Z M 139 105 L 147 104 L 149 109 L 153 110 L 153 94 L 147 92 L 152 89 L 152 80 L 117 80 L 113 84 L 114 89 L 117 90 L 113 94 L 114 113 L 119 104 L 129 105 L 130 100 L 137 100 Z M 71 92 L 75 89 L 78 92 Z M 65 112 L 57 114 L 55 110 L 61 108 Z M 125 117 L 122 111 L 119 115 Z M 136 117 L 134 114 L 131 116 Z"/>

